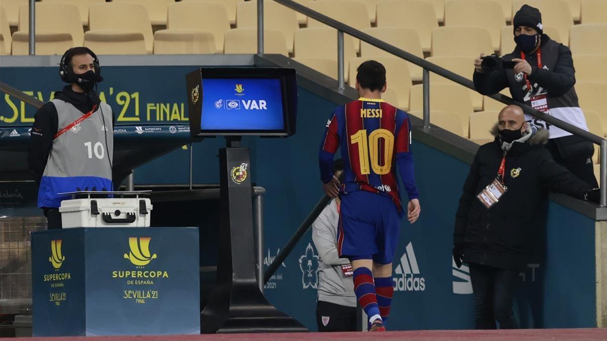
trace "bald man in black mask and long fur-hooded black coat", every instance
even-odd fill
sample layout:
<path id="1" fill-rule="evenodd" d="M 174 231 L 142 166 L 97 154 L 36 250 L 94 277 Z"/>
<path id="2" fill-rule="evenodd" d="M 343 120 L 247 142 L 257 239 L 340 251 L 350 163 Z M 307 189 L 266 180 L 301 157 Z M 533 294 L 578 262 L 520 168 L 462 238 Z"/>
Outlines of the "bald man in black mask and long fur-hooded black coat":
<path id="1" fill-rule="evenodd" d="M 532 134 L 520 107 L 502 109 L 492 133 L 495 141 L 478 149 L 459 199 L 453 258 L 458 267 L 470 265 L 475 328 L 495 329 L 496 320 L 500 328 L 518 328 L 512 295 L 527 263 L 529 231 L 546 187 L 592 201 L 599 200 L 599 191 L 552 159 L 543 147 L 548 131 Z M 506 192 L 487 208 L 479 194 L 496 180 Z"/>

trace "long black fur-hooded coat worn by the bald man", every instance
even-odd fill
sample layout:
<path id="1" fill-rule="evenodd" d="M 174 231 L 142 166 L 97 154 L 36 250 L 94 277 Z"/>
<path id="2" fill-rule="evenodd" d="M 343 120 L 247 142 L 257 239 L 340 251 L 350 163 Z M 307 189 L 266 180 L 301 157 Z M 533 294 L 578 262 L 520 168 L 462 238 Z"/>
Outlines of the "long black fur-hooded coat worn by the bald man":
<path id="1" fill-rule="evenodd" d="M 493 133 L 497 135 L 497 127 Z M 547 139 L 548 132 L 540 129 L 527 142 L 514 142 L 506 155 L 504 184 L 508 190 L 490 209 L 476 195 L 495 179 L 503 150 L 499 138 L 478 149 L 459 199 L 453 233 L 455 245 L 463 244 L 464 262 L 524 268 L 529 232 L 546 187 L 584 198 L 590 187 L 552 159 L 542 146 Z"/>

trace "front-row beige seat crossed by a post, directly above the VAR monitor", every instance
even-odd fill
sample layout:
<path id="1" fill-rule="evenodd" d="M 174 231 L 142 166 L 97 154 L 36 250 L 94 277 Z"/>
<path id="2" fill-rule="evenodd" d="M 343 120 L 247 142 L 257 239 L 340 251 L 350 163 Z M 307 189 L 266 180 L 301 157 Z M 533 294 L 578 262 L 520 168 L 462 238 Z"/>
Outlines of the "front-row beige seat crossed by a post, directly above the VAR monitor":
<path id="1" fill-rule="evenodd" d="M 257 53 L 257 29 L 228 30 L 223 53 Z M 263 30 L 263 53 L 289 56 L 283 32 Z"/>

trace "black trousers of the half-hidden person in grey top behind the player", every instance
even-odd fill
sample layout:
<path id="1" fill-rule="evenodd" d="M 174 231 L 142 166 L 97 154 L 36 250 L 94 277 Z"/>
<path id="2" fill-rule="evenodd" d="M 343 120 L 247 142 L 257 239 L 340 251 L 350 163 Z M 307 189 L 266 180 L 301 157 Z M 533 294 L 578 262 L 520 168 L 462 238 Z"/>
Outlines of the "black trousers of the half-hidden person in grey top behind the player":
<path id="1" fill-rule="evenodd" d="M 318 331 L 356 331 L 356 307 L 318 301 L 316 324 Z"/>

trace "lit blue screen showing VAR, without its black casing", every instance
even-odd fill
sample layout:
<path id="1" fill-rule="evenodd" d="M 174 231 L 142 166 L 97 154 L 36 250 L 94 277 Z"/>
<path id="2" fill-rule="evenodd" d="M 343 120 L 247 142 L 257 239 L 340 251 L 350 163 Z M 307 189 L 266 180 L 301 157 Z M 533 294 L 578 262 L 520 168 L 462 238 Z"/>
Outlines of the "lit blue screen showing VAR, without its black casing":
<path id="1" fill-rule="evenodd" d="M 202 79 L 201 130 L 284 130 L 278 78 Z"/>

